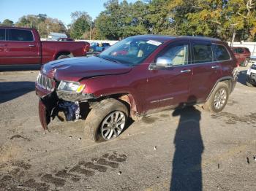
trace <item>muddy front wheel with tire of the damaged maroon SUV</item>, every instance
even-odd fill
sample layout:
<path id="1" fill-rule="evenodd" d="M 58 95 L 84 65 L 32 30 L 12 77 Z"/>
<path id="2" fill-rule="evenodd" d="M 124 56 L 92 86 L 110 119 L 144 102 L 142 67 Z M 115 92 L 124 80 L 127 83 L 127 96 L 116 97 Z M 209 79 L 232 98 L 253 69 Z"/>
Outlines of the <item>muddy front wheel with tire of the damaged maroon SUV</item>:
<path id="1" fill-rule="evenodd" d="M 86 118 L 86 136 L 92 141 L 116 138 L 127 123 L 127 106 L 109 98 L 95 104 Z"/>

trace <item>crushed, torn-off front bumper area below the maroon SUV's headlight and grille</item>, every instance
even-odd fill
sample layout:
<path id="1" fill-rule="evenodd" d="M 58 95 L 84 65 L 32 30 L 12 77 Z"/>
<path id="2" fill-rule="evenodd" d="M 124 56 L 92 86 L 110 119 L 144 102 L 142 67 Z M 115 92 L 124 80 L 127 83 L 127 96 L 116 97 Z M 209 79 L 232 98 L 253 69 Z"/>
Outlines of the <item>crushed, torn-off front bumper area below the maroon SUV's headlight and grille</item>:
<path id="1" fill-rule="evenodd" d="M 50 120 L 55 117 L 66 121 L 83 118 L 85 111 L 80 111 L 80 107 L 89 110 L 88 101 L 96 99 L 94 95 L 88 93 L 68 93 L 59 90 L 51 92 L 37 85 L 36 94 L 39 96 L 39 120 L 44 130 L 48 130 Z"/>

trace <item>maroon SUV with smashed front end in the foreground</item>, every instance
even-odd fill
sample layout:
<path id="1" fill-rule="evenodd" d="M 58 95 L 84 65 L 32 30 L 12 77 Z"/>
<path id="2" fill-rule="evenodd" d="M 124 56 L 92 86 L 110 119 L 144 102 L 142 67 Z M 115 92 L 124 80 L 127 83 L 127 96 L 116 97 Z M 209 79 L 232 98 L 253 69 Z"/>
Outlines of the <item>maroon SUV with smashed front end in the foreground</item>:
<path id="1" fill-rule="evenodd" d="M 118 136 L 127 117 L 199 104 L 220 112 L 236 85 L 236 58 L 219 39 L 132 36 L 97 56 L 42 66 L 36 82 L 39 118 L 85 120 L 94 141 Z"/>

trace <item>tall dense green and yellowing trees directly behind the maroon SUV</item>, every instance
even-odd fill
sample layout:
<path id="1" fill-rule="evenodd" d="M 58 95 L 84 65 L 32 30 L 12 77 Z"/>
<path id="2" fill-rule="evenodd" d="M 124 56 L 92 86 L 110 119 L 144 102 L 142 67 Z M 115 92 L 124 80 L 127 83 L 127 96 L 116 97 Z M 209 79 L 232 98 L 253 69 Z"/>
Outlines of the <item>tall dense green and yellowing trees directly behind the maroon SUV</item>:
<path id="1" fill-rule="evenodd" d="M 200 35 L 252 40 L 256 34 L 255 0 L 109 0 L 95 20 L 97 38 L 136 34 Z"/>

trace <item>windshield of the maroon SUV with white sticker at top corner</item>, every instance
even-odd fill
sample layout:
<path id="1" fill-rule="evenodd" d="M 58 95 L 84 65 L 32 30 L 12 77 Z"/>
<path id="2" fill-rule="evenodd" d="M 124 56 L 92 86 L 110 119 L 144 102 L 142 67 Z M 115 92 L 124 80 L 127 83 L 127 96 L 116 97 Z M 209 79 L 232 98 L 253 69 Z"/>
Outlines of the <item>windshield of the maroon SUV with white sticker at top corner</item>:
<path id="1" fill-rule="evenodd" d="M 100 58 L 137 65 L 145 60 L 162 42 L 127 38 L 99 54 Z"/>

